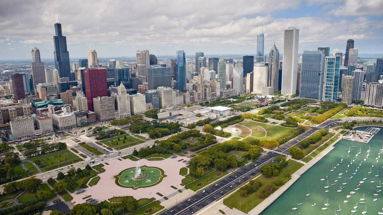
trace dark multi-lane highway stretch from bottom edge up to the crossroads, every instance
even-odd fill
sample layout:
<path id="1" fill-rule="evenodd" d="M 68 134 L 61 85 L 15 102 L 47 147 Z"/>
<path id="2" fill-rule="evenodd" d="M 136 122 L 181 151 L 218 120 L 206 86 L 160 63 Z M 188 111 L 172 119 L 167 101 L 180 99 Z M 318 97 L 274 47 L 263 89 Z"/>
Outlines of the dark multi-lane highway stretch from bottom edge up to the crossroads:
<path id="1" fill-rule="evenodd" d="M 259 173 L 259 168 L 267 163 L 274 163 L 275 156 L 280 154 L 273 151 L 267 152 L 262 158 L 250 163 L 238 171 L 230 174 L 228 177 L 218 181 L 216 184 L 207 187 L 201 192 L 185 199 L 182 202 L 170 207 L 160 215 L 190 215 L 206 207 L 216 199 L 236 189 L 237 186 L 249 181 L 253 176 Z"/>

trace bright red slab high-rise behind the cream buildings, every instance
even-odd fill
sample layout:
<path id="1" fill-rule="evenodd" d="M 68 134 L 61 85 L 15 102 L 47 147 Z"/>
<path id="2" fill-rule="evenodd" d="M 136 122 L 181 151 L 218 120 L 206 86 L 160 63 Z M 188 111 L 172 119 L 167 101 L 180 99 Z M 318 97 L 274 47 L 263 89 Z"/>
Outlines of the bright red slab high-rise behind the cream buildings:
<path id="1" fill-rule="evenodd" d="M 106 68 L 90 68 L 84 70 L 85 94 L 88 110 L 93 111 L 93 98 L 108 96 Z"/>

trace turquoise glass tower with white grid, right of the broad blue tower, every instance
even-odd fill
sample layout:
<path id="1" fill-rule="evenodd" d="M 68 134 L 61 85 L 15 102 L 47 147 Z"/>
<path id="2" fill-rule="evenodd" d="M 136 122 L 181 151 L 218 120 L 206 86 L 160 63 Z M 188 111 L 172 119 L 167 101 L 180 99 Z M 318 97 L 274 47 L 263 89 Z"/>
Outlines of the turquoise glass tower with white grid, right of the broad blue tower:
<path id="1" fill-rule="evenodd" d="M 323 96 L 324 101 L 336 101 L 339 88 L 340 56 L 328 56 L 324 60 Z"/>

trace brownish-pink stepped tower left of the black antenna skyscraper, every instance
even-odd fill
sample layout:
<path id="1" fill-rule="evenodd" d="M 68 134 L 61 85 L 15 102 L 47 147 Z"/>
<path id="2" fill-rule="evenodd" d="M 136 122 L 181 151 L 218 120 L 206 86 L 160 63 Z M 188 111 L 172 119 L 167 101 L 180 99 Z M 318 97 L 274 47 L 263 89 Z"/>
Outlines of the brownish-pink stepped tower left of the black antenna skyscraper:
<path id="1" fill-rule="evenodd" d="M 36 85 L 39 83 L 45 83 L 45 67 L 44 62 L 40 59 L 40 50 L 34 47 L 31 51 L 32 54 L 32 77 L 33 77 L 33 90 L 36 94 Z"/>

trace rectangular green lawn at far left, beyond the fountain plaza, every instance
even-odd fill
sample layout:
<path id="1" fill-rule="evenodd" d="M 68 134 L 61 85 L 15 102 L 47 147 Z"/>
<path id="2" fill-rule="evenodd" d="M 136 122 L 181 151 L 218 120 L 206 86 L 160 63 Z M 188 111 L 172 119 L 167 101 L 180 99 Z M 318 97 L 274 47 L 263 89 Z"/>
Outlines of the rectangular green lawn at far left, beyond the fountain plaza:
<path id="1" fill-rule="evenodd" d="M 34 156 L 33 158 L 28 158 L 28 160 L 32 161 L 33 163 L 40 161 L 41 163 L 45 164 L 46 166 L 40 168 L 42 171 L 49 171 L 83 161 L 81 158 L 79 158 L 79 156 L 75 155 L 67 149 Z"/>

